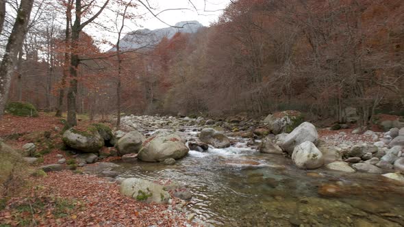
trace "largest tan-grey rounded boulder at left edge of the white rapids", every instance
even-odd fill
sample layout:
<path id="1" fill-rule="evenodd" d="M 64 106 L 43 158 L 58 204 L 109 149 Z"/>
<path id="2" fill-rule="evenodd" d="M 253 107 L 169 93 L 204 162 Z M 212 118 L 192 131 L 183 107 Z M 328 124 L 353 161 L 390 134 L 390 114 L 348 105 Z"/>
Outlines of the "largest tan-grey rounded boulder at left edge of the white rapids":
<path id="1" fill-rule="evenodd" d="M 164 132 L 151 135 L 138 152 L 142 161 L 164 161 L 166 159 L 181 159 L 188 154 L 185 139 L 177 133 Z"/>

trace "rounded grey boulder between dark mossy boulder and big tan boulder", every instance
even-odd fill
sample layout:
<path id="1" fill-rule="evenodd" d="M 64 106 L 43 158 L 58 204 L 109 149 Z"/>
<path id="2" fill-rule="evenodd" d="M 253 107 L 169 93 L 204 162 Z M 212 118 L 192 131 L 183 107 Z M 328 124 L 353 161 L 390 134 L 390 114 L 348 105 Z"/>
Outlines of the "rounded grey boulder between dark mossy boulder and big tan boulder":
<path id="1" fill-rule="evenodd" d="M 119 155 L 138 153 L 145 140 L 146 138 L 144 138 L 142 133 L 131 131 L 116 142 L 116 150 L 118 150 Z"/>

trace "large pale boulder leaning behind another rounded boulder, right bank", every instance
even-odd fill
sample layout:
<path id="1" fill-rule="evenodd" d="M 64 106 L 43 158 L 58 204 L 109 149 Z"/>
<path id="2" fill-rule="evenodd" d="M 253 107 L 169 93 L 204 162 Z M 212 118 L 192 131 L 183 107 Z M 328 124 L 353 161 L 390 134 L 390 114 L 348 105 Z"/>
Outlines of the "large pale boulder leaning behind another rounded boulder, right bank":
<path id="1" fill-rule="evenodd" d="M 309 122 L 303 122 L 296 129 L 294 129 L 292 133 L 286 135 L 279 146 L 290 155 L 292 154 L 295 146 L 307 141 L 317 144 L 318 133 L 316 126 Z"/>

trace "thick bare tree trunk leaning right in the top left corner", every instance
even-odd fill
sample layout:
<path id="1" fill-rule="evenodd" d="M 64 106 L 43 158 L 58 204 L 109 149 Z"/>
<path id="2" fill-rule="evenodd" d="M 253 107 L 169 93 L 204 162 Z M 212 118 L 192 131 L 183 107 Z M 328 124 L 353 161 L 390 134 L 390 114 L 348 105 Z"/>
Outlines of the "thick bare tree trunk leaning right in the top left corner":
<path id="1" fill-rule="evenodd" d="M 11 77 L 16 66 L 18 51 L 23 45 L 25 34 L 27 34 L 27 25 L 33 3 L 34 0 L 21 1 L 16 21 L 10 37 L 8 38 L 7 46 L 5 46 L 5 53 L 0 66 L 0 117 L 3 116 L 5 102 L 8 98 Z"/>

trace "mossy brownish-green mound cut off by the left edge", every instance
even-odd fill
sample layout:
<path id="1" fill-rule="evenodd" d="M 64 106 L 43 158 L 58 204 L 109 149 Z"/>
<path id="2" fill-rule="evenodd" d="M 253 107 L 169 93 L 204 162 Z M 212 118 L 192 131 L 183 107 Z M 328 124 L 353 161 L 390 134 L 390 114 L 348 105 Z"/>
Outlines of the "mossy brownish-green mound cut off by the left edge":
<path id="1" fill-rule="evenodd" d="M 11 187 L 21 185 L 25 162 L 18 152 L 0 142 L 0 198 L 12 193 Z"/>

